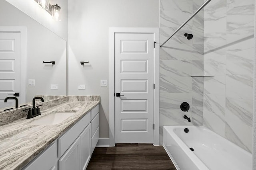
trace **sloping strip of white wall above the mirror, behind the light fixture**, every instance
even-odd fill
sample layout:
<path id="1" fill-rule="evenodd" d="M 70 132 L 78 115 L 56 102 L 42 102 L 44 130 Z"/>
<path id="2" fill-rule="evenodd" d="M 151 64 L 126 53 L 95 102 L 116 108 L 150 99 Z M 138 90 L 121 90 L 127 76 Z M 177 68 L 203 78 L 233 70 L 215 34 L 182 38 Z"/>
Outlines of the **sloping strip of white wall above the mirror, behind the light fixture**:
<path id="1" fill-rule="evenodd" d="M 42 8 L 39 8 L 34 0 L 6 0 L 34 20 L 38 21 L 63 39 L 68 39 L 68 0 L 49 0 L 50 4 L 58 4 L 61 7 L 61 21 L 55 21 L 52 16 Z"/>

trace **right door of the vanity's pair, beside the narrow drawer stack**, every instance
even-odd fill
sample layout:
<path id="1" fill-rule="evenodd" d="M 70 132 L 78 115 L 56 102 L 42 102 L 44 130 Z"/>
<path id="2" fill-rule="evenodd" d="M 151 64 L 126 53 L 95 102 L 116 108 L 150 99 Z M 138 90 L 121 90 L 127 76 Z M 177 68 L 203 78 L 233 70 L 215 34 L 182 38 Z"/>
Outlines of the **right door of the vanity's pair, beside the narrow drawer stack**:
<path id="1" fill-rule="evenodd" d="M 80 134 L 81 167 L 85 170 L 91 158 L 91 124 Z"/>

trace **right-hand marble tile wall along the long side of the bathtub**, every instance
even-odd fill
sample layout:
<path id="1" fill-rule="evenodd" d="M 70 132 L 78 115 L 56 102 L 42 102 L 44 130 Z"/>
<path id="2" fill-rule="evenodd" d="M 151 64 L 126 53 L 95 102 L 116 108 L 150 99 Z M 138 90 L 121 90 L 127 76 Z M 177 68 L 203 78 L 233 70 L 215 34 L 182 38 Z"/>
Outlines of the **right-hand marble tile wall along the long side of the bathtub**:
<path id="1" fill-rule="evenodd" d="M 254 0 L 214 0 L 204 8 L 204 123 L 252 151 Z"/>

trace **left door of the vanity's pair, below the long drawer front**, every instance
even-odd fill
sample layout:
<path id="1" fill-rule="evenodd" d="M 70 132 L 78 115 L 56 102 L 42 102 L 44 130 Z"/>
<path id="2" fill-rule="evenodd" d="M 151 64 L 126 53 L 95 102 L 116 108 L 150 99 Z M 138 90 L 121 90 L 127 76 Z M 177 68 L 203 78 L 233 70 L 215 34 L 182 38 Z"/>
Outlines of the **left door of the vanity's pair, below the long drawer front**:
<path id="1" fill-rule="evenodd" d="M 81 170 L 80 153 L 80 137 L 78 137 L 60 158 L 59 170 Z"/>

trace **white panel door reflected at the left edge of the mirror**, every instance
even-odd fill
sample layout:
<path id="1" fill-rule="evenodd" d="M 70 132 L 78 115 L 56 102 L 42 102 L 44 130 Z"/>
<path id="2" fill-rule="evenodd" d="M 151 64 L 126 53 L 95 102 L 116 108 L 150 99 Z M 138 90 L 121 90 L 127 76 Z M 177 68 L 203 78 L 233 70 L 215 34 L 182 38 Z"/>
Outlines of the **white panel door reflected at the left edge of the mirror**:
<path id="1" fill-rule="evenodd" d="M 0 32 L 0 108 L 15 106 L 15 100 L 4 103 L 15 92 L 20 92 L 20 33 Z"/>

